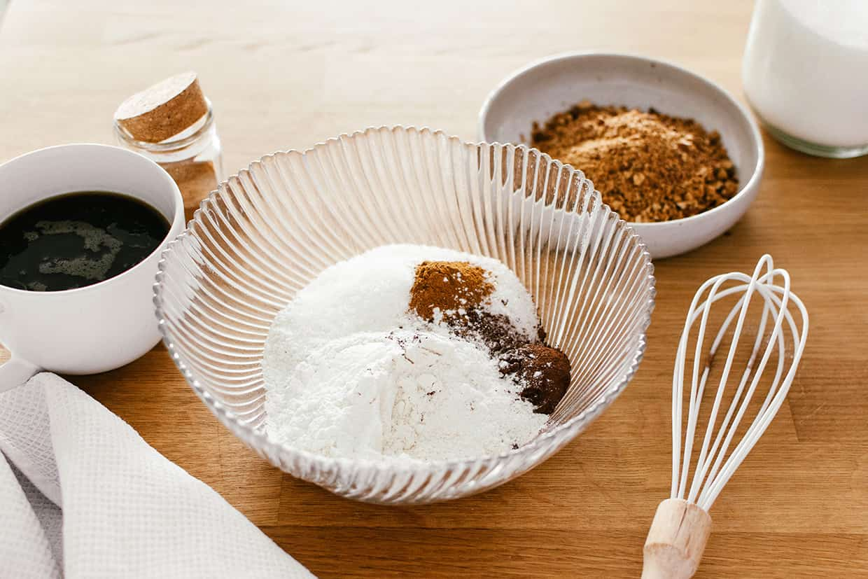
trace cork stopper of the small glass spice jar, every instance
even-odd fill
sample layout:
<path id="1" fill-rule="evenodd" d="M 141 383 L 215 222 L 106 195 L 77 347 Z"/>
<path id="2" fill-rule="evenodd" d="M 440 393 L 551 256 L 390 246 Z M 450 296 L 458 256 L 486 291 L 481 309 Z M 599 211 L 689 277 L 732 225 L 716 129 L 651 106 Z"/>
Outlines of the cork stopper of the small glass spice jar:
<path id="1" fill-rule="evenodd" d="M 130 96 L 115 122 L 136 141 L 160 142 L 202 118 L 208 104 L 194 72 L 183 72 Z"/>

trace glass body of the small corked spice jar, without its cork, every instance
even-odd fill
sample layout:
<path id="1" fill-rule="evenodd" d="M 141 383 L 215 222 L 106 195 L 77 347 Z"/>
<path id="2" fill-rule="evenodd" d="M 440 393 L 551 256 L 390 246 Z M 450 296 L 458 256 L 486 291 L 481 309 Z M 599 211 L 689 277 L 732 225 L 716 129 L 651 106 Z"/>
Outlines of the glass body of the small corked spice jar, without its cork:
<path id="1" fill-rule="evenodd" d="M 178 184 L 187 220 L 223 179 L 223 148 L 211 102 L 206 102 L 207 113 L 201 119 L 165 141 L 138 141 L 115 121 L 115 137 L 122 147 L 156 161 Z"/>

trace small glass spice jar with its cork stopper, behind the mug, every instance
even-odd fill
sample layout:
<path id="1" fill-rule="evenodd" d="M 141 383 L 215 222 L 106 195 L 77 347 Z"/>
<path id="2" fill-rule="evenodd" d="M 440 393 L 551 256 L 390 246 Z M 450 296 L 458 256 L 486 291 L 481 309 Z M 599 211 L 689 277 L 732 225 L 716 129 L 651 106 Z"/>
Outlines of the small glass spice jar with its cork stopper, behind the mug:
<path id="1" fill-rule="evenodd" d="M 173 76 L 124 101 L 115 112 L 115 137 L 166 169 L 181 189 L 187 220 L 222 179 L 214 110 L 194 73 Z"/>

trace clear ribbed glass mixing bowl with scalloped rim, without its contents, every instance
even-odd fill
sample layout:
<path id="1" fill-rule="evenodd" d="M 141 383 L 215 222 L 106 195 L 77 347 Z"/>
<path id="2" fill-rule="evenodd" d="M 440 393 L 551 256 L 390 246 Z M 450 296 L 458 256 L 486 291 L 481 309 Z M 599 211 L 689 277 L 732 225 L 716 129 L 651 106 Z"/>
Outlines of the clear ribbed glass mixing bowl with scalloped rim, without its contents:
<path id="1" fill-rule="evenodd" d="M 326 267 L 390 243 L 496 258 L 533 294 L 572 377 L 529 444 L 396 466 L 269 438 L 261 360 L 275 315 Z M 344 497 L 431 503 L 521 475 L 612 403 L 645 350 L 654 276 L 641 240 L 582 172 L 523 146 L 383 127 L 267 155 L 221 183 L 163 253 L 154 301 L 187 382 L 271 464 Z"/>

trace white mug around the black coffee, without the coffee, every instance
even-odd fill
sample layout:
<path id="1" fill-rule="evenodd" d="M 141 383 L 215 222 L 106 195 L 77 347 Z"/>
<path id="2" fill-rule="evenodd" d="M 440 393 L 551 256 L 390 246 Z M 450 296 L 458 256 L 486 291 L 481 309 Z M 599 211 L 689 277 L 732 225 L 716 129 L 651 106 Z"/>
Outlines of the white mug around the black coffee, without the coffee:
<path id="1" fill-rule="evenodd" d="M 0 222 L 36 201 L 75 191 L 128 194 L 155 207 L 172 225 L 145 260 L 92 286 L 29 292 L 0 285 L 0 343 L 12 353 L 0 366 L 0 391 L 42 370 L 113 370 L 160 341 L 152 287 L 163 249 L 184 228 L 178 186 L 154 161 L 123 148 L 43 148 L 0 166 Z"/>

